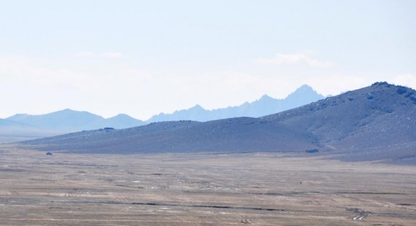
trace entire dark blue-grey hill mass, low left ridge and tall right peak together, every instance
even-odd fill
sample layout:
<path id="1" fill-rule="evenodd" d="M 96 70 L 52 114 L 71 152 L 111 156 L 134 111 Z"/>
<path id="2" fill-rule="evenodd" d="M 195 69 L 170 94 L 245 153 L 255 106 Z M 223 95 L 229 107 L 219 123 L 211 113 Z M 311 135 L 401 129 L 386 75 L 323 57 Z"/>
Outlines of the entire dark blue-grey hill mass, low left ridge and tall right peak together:
<path id="1" fill-rule="evenodd" d="M 259 118 L 168 121 L 24 141 L 73 153 L 297 152 L 416 164 L 416 92 L 376 82 Z"/>

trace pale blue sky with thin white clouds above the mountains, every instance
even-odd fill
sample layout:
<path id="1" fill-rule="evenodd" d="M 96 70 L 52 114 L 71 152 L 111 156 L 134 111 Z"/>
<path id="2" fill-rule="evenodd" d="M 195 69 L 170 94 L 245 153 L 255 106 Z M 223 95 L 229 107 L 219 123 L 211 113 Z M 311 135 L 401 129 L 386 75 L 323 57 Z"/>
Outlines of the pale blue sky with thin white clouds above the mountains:
<path id="1" fill-rule="evenodd" d="M 416 1 L 3 1 L 0 118 L 416 89 Z"/>

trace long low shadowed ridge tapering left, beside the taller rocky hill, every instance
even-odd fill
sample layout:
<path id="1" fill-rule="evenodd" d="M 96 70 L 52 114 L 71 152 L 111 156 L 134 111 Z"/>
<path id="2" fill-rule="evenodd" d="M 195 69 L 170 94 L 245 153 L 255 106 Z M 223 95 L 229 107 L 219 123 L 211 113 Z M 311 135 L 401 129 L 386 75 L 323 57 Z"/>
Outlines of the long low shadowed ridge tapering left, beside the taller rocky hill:
<path id="1" fill-rule="evenodd" d="M 315 143 L 309 132 L 246 117 L 205 123 L 151 123 L 124 130 L 91 130 L 23 142 L 40 150 L 84 153 L 303 151 L 315 148 Z"/>

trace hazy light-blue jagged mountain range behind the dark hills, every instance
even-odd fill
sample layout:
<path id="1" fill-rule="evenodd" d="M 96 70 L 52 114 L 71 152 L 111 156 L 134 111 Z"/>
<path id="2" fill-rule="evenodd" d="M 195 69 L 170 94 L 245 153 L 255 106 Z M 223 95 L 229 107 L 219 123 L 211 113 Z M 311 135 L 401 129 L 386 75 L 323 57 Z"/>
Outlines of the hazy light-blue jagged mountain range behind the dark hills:
<path id="1" fill-rule="evenodd" d="M 123 129 L 158 121 L 211 121 L 238 116 L 257 117 L 299 107 L 322 98 L 324 96 L 313 91 L 311 87 L 303 85 L 282 100 L 264 95 L 258 101 L 252 103 L 243 103 L 240 106 L 217 110 L 205 110 L 200 105 L 196 105 L 188 110 L 180 110 L 172 114 L 158 114 L 148 121 L 140 121 L 127 114 L 119 114 L 110 119 L 104 119 L 102 116 L 96 114 L 69 109 L 42 115 L 15 114 L 6 119 L 1 119 L 0 135 L 19 134 L 19 132 L 24 131 L 26 134 L 33 132 L 42 137 L 42 133 L 50 135 L 82 130 L 96 130 L 98 128 Z"/>

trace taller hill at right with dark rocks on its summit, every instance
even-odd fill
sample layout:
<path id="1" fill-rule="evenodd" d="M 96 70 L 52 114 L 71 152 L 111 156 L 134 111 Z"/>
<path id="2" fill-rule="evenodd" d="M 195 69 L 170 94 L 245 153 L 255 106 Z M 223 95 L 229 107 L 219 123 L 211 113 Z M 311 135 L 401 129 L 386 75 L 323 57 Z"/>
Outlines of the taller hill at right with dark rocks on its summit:
<path id="1" fill-rule="evenodd" d="M 294 110 L 263 116 L 311 132 L 347 159 L 416 155 L 416 92 L 377 82 Z"/>

